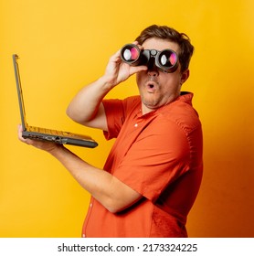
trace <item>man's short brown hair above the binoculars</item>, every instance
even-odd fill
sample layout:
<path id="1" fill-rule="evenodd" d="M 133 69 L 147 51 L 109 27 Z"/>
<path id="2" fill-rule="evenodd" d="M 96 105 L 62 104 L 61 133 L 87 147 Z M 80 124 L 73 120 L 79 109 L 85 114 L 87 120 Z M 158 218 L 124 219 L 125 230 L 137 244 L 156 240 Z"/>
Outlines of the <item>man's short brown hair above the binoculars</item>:
<path id="1" fill-rule="evenodd" d="M 140 45 L 143 45 L 146 39 L 152 37 L 169 40 L 178 44 L 180 47 L 179 62 L 181 64 L 181 71 L 183 72 L 185 69 L 188 69 L 194 47 L 190 43 L 190 38 L 185 33 L 179 33 L 172 27 L 152 25 L 144 28 L 140 36 L 135 40 Z"/>

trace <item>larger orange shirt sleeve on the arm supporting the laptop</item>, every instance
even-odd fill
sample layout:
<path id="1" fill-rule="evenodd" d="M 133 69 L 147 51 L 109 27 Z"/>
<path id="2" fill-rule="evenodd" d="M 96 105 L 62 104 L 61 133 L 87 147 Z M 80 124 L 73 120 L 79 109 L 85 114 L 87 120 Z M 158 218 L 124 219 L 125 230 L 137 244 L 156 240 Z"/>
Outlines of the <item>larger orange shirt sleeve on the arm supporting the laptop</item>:
<path id="1" fill-rule="evenodd" d="M 143 130 L 113 176 L 155 202 L 165 187 L 189 170 L 189 159 L 184 131 L 162 118 Z"/>

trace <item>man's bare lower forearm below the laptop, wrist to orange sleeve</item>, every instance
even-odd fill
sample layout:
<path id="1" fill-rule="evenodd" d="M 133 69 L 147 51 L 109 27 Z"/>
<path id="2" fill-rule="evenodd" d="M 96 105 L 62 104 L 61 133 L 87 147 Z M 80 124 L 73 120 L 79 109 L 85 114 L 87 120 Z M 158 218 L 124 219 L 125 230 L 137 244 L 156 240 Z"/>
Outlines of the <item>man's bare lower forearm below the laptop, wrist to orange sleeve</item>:
<path id="1" fill-rule="evenodd" d="M 89 165 L 63 146 L 49 153 L 69 170 L 81 187 L 111 212 L 118 212 L 141 197 L 110 173 Z"/>

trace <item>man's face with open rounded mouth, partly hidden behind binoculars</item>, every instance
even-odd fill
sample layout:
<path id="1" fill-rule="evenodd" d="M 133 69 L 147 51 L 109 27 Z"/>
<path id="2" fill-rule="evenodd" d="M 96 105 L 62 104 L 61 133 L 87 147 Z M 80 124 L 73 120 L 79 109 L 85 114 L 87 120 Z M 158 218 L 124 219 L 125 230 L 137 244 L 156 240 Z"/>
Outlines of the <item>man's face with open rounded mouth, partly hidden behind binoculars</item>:
<path id="1" fill-rule="evenodd" d="M 179 46 L 176 43 L 159 38 L 145 40 L 143 48 L 159 51 L 170 48 L 177 55 L 179 53 Z M 181 85 L 189 75 L 188 70 L 183 73 L 180 70 L 179 65 L 175 72 L 165 73 L 153 65 L 153 68 L 137 73 L 136 80 L 143 102 L 143 114 L 174 101 L 180 95 Z"/>

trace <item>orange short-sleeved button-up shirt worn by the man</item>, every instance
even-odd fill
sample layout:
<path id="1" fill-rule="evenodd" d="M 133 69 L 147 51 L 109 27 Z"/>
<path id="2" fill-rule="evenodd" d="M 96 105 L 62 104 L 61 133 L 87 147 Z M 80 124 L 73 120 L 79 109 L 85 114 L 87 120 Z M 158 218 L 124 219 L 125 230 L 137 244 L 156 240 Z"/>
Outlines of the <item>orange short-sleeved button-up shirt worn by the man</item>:
<path id="1" fill-rule="evenodd" d="M 143 199 L 113 214 L 91 198 L 83 237 L 187 237 L 186 217 L 203 171 L 202 129 L 192 97 L 182 93 L 144 115 L 140 96 L 103 101 L 105 136 L 117 138 L 104 170 Z"/>

